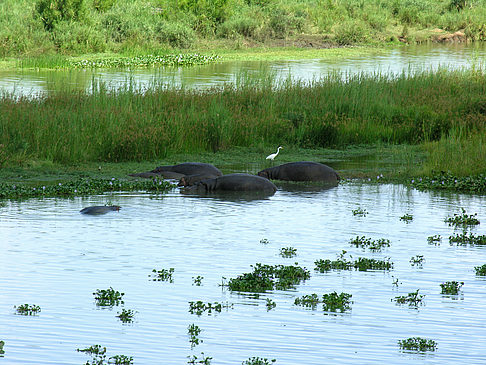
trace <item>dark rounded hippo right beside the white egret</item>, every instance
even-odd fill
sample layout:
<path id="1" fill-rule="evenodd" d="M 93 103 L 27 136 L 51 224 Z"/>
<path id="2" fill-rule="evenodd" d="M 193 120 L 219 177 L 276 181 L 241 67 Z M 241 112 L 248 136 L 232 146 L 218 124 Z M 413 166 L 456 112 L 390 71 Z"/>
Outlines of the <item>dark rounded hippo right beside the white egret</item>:
<path id="1" fill-rule="evenodd" d="M 287 181 L 323 181 L 337 184 L 341 178 L 331 167 L 319 162 L 290 162 L 270 167 L 258 172 L 258 176 L 271 180 Z"/>

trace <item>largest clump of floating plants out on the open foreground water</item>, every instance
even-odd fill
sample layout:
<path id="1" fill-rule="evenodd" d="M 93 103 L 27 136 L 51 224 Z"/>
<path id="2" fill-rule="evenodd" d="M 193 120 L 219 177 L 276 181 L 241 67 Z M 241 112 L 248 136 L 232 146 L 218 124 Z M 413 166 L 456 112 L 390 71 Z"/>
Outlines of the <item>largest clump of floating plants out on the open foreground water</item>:
<path id="1" fill-rule="evenodd" d="M 265 292 L 267 290 L 287 290 L 295 288 L 310 278 L 310 272 L 305 267 L 289 265 L 262 265 L 253 266 L 253 272 L 239 275 L 229 279 L 228 288 L 231 291 Z"/>

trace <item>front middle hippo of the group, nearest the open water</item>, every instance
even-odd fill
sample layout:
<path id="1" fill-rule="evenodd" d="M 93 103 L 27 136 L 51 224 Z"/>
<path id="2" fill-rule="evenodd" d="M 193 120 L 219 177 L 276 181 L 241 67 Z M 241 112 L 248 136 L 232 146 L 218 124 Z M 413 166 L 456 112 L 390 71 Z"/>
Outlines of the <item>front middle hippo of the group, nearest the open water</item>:
<path id="1" fill-rule="evenodd" d="M 262 192 L 273 194 L 277 187 L 271 181 L 256 175 L 250 174 L 228 174 L 218 176 L 214 179 L 202 180 L 193 186 L 185 189 L 186 191 L 195 192 Z"/>

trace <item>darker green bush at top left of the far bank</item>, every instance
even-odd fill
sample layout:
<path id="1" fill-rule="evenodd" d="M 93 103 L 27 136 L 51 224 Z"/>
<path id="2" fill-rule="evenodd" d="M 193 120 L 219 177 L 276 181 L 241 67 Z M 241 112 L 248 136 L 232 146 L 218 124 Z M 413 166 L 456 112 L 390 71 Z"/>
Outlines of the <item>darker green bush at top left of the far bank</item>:
<path id="1" fill-rule="evenodd" d="M 36 12 L 44 23 L 46 30 L 51 31 L 63 20 L 79 21 L 85 17 L 84 0 L 39 0 Z"/>

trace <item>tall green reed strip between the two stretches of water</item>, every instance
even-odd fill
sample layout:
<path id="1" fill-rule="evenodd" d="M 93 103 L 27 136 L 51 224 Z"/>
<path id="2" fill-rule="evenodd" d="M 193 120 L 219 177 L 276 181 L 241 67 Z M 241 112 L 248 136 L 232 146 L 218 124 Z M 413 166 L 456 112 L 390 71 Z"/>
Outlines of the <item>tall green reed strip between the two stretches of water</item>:
<path id="1" fill-rule="evenodd" d="M 440 171 L 478 175 L 486 171 L 484 95 L 486 74 L 475 69 L 396 78 L 358 75 L 346 82 L 328 76 L 310 85 L 284 82 L 278 87 L 268 74 L 242 77 L 238 88 L 209 91 L 154 86 L 141 94 L 130 88 L 109 92 L 101 85 L 92 94 L 4 97 L 0 166 L 9 171 L 187 160 L 225 165 L 224 160 L 239 158 L 241 165 L 264 161 L 283 145 L 280 162 L 349 160 L 360 149 L 374 148 L 356 153 L 375 161 L 402 161 L 386 171 L 390 177 Z M 380 152 L 363 146 L 391 147 L 379 147 L 386 151 Z M 322 152 L 327 149 L 334 152 Z M 375 167 L 344 175 L 373 176 L 386 168 Z"/>

